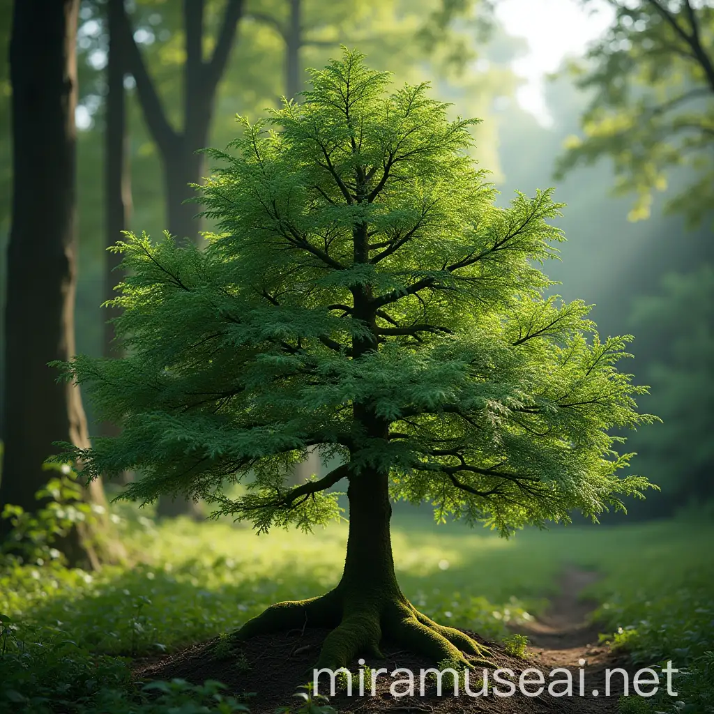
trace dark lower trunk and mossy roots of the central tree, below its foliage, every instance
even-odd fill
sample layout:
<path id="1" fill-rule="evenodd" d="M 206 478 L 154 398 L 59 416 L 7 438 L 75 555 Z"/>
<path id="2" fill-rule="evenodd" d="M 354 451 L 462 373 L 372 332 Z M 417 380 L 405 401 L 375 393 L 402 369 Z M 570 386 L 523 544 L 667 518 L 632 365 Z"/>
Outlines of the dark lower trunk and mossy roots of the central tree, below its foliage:
<path id="1" fill-rule="evenodd" d="M 316 664 L 320 668 L 347 666 L 360 655 L 380 657 L 385 642 L 421 653 L 434 663 L 486 662 L 486 648 L 459 630 L 433 622 L 403 595 L 392 556 L 387 474 L 363 471 L 349 480 L 347 554 L 336 588 L 318 598 L 272 605 L 248 620 L 236 638 L 306 626 L 331 628 Z M 477 659 L 470 662 L 464 653 Z"/>

